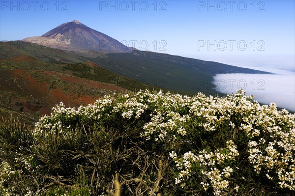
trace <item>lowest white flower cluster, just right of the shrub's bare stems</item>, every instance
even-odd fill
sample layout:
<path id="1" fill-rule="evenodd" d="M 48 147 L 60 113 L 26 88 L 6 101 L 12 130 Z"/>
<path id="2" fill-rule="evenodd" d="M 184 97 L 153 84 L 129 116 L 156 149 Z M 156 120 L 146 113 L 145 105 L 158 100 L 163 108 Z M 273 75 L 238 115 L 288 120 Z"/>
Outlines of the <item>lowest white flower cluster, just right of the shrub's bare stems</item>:
<path id="1" fill-rule="evenodd" d="M 185 153 L 181 158 L 174 158 L 177 163 L 177 169 L 180 170 L 176 178 L 176 184 L 181 187 L 185 186 L 185 181 L 189 179 L 192 169 L 198 168 L 207 181 L 202 181 L 202 187 L 205 191 L 212 186 L 214 195 L 218 196 L 229 187 L 230 182 L 227 180 L 233 172 L 233 168 L 229 163 L 239 155 L 236 145 L 232 140 L 227 141 L 226 148 L 217 149 L 214 152 L 206 150 L 194 154 L 192 152 Z M 227 163 L 227 164 L 225 164 Z M 206 179 L 204 178 L 204 179 Z"/>

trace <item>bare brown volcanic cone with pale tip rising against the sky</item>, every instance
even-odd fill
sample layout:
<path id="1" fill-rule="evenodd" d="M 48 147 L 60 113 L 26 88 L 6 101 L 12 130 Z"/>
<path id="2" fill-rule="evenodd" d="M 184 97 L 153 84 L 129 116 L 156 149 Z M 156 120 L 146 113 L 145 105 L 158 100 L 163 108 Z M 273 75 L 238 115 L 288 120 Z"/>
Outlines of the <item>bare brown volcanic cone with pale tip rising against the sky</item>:
<path id="1" fill-rule="evenodd" d="M 133 50 L 77 20 L 61 24 L 42 36 L 28 37 L 23 41 L 76 52 L 92 50 L 104 53 L 128 53 Z"/>

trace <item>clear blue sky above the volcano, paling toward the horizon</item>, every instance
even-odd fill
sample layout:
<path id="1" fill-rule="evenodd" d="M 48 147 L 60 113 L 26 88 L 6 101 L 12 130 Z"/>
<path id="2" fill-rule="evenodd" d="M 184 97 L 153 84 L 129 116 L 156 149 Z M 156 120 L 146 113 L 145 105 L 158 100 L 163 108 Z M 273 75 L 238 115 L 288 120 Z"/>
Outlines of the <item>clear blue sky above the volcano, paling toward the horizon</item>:
<path id="1" fill-rule="evenodd" d="M 78 20 L 142 50 L 238 66 L 295 69 L 294 0 L 0 2 L 1 41 L 40 36 Z"/>

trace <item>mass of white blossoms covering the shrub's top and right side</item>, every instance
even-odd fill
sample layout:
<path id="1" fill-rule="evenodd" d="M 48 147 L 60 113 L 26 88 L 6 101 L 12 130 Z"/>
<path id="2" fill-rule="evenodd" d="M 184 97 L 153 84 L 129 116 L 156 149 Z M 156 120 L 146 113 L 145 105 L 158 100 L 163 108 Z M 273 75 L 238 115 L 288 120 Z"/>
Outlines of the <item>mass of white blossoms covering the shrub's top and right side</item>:
<path id="1" fill-rule="evenodd" d="M 248 161 L 256 174 L 281 189 L 295 190 L 295 114 L 278 111 L 273 103 L 261 106 L 242 91 L 225 97 L 202 93 L 188 97 L 146 90 L 104 97 L 78 109 L 65 108 L 61 103 L 51 115 L 36 123 L 35 135 L 50 130 L 62 133 L 75 123 L 100 123 L 110 116 L 130 122 L 144 121 L 141 136 L 151 142 L 178 138 L 189 146 L 194 143 L 197 131 L 218 135 L 226 130 L 233 134 L 218 148 L 197 150 L 189 146 L 191 151 L 182 150 L 182 154 L 171 149 L 170 157 L 175 160 L 178 172 L 176 184 L 182 187 L 193 175 L 198 175 L 202 176 L 198 179 L 203 190 L 212 190 L 216 196 L 227 192 L 229 187 L 238 191 L 238 185 L 229 178 L 235 173 L 241 153 L 237 146 L 243 146 L 247 148 L 243 156 L 247 157 L 242 160 Z M 243 140 L 232 139 L 239 136 Z M 240 141 L 245 143 L 237 143 Z"/>

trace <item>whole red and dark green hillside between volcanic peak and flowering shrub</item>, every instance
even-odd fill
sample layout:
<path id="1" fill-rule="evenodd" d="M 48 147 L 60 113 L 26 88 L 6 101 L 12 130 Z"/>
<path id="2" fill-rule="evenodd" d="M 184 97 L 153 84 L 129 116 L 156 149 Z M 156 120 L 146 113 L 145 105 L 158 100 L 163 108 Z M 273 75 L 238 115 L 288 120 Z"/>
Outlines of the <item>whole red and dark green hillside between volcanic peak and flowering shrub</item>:
<path id="1" fill-rule="evenodd" d="M 24 41 L 0 42 L 0 72 L 1 115 L 23 112 L 27 122 L 60 101 L 77 107 L 116 91 L 146 88 L 216 95 L 211 81 L 217 73 L 267 73 L 167 54 L 75 53 Z"/>

